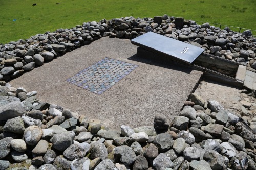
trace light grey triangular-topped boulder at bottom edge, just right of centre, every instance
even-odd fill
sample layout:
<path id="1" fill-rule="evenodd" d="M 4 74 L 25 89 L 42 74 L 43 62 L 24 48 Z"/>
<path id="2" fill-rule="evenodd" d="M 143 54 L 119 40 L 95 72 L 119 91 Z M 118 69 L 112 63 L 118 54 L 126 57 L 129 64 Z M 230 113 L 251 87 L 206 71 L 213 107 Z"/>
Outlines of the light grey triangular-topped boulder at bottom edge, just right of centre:
<path id="1" fill-rule="evenodd" d="M 163 153 L 160 153 L 154 160 L 153 166 L 156 169 L 173 168 L 174 163 Z"/>

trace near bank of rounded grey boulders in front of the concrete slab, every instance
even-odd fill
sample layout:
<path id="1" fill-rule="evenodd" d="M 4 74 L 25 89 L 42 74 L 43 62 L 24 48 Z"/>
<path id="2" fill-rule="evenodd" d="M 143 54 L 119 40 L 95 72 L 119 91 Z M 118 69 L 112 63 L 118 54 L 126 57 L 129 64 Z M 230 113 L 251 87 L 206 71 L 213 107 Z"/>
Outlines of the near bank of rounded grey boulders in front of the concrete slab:
<path id="1" fill-rule="evenodd" d="M 256 118 L 196 93 L 173 120 L 118 132 L 0 83 L 0 169 L 256 169 Z"/>

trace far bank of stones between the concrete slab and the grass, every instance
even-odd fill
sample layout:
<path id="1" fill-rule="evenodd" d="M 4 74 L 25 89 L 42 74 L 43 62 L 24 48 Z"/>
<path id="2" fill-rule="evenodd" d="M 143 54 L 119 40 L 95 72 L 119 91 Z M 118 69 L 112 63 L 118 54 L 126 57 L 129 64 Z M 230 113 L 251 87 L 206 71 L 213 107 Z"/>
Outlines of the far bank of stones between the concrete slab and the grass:
<path id="1" fill-rule="evenodd" d="M 72 29 L 36 34 L 26 40 L 0 45 L 0 80 L 9 81 L 44 62 L 105 36 L 133 39 L 146 32 L 155 32 L 205 49 L 232 61 L 247 64 L 256 71 L 256 38 L 250 30 L 238 33 L 225 27 L 198 25 L 195 21 L 164 16 L 135 19 L 125 17 L 100 22 L 87 22 Z M 249 68 L 249 69 L 250 69 Z"/>

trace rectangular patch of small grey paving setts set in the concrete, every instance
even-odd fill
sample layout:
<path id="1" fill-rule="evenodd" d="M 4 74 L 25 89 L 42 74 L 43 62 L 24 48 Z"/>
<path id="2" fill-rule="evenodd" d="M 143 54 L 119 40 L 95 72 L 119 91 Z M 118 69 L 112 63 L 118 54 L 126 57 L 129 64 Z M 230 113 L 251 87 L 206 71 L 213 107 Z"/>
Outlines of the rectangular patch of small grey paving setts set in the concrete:
<path id="1" fill-rule="evenodd" d="M 137 67 L 138 65 L 104 58 L 67 81 L 100 95 Z"/>

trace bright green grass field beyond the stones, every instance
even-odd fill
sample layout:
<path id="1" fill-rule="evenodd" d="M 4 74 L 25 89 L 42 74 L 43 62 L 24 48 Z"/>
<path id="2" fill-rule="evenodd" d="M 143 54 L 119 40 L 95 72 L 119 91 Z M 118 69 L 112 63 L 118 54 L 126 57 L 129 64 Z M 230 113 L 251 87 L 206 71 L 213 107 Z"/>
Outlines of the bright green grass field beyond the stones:
<path id="1" fill-rule="evenodd" d="M 37 5 L 32 6 L 34 3 Z M 72 28 L 87 21 L 125 16 L 153 18 L 163 14 L 216 23 L 218 27 L 222 23 L 256 30 L 255 7 L 256 0 L 0 0 L 0 43 Z"/>

